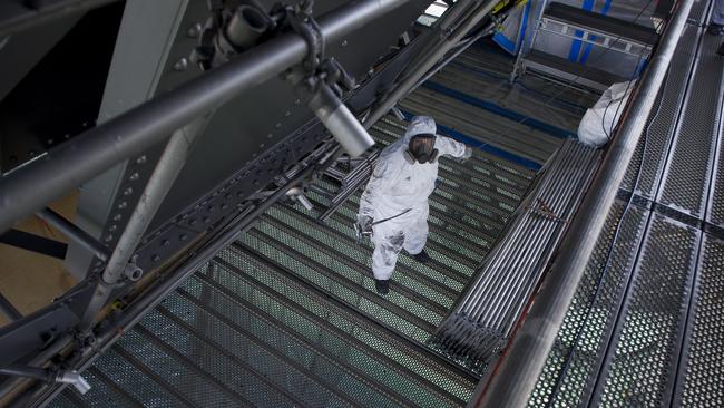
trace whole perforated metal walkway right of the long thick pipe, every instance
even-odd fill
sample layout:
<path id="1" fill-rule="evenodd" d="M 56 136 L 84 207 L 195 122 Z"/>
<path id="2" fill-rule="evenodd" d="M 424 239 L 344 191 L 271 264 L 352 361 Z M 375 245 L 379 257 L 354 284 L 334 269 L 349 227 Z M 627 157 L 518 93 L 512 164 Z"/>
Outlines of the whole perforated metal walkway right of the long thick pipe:
<path id="1" fill-rule="evenodd" d="M 692 13 L 531 407 L 724 406 L 724 60 L 715 55 L 721 39 L 696 25 L 702 9 Z"/>

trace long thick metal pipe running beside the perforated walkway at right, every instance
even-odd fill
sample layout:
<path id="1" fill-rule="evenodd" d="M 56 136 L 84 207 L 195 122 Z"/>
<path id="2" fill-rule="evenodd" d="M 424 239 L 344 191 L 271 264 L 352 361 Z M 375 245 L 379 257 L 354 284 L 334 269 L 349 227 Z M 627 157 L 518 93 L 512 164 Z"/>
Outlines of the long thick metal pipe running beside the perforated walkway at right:
<path id="1" fill-rule="evenodd" d="M 644 133 L 694 0 L 677 4 L 626 117 L 561 243 L 559 256 L 501 363 L 471 407 L 526 407 Z"/>

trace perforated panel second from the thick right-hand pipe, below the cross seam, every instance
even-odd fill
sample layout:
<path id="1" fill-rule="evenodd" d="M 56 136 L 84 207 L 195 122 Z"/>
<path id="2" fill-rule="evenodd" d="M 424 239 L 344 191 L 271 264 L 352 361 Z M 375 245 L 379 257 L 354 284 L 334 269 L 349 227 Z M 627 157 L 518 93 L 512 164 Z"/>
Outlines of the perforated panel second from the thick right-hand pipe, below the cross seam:
<path id="1" fill-rule="evenodd" d="M 668 405 L 699 233 L 654 214 L 598 377 L 594 405 Z"/>

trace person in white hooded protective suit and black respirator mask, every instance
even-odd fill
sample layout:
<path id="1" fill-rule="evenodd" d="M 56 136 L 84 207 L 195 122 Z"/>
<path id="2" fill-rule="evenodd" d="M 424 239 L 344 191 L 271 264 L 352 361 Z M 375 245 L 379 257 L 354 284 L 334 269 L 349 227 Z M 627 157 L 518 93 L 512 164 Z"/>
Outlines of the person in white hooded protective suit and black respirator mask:
<path id="1" fill-rule="evenodd" d="M 436 133 L 431 117 L 412 118 L 404 136 L 380 153 L 360 200 L 356 227 L 362 234 L 372 235 L 372 272 L 381 294 L 389 292 L 390 278 L 402 249 L 419 262 L 430 259 L 424 251 L 428 196 L 436 187 L 438 157 L 463 161 L 472 155 L 470 147 Z"/>

